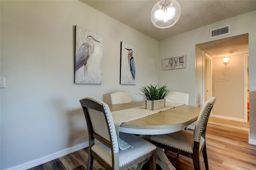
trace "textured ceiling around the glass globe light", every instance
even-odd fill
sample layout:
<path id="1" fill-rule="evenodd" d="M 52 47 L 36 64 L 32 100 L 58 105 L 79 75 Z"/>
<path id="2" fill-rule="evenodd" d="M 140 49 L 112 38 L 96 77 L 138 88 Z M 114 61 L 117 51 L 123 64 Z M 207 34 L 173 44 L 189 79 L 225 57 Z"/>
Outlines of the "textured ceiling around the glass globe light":
<path id="1" fill-rule="evenodd" d="M 177 0 L 181 7 L 180 19 L 174 26 L 161 29 L 150 19 L 150 12 L 158 0 L 80 1 L 156 40 L 256 10 L 256 0 Z"/>

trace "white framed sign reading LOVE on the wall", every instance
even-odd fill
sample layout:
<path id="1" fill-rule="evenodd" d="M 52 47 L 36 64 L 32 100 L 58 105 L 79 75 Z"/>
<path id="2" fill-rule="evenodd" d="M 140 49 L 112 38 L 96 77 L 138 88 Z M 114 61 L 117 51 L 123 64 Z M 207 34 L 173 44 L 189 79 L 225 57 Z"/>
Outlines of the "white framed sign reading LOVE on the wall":
<path id="1" fill-rule="evenodd" d="M 164 70 L 186 68 L 186 55 L 164 58 Z"/>

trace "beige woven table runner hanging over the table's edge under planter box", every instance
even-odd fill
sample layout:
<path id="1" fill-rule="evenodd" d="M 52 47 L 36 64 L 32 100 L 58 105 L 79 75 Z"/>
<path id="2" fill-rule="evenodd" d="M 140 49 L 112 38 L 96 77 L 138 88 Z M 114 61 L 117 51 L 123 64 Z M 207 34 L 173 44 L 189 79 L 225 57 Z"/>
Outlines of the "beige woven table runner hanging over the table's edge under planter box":
<path id="1" fill-rule="evenodd" d="M 113 120 L 114 120 L 114 124 L 115 124 L 119 148 L 121 150 L 126 150 L 127 148 L 132 147 L 130 144 L 126 143 L 124 140 L 119 138 L 119 127 L 122 123 L 130 122 L 132 120 L 143 118 L 143 117 L 149 116 L 151 114 L 156 114 L 158 112 L 162 112 L 164 110 L 168 110 L 168 109 L 175 108 L 175 107 L 182 106 L 182 105 L 184 105 L 184 104 L 166 102 L 164 108 L 159 108 L 156 110 L 148 110 L 148 109 L 145 109 L 145 106 L 139 106 L 136 108 L 130 108 L 130 109 L 124 109 L 124 110 L 118 110 L 115 112 L 111 112 Z"/>

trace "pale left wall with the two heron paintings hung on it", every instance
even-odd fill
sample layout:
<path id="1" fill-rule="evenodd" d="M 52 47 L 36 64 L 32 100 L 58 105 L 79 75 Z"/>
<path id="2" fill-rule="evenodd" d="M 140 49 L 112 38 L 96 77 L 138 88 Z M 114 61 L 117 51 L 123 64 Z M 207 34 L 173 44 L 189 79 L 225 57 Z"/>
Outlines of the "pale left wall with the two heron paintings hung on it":
<path id="1" fill-rule="evenodd" d="M 79 100 L 157 84 L 158 42 L 79 1 L 0 1 L 1 167 L 88 141 Z M 102 84 L 74 84 L 74 26 L 102 34 Z M 120 85 L 120 42 L 136 46 L 135 85 Z M 105 97 L 107 98 L 107 97 Z"/>

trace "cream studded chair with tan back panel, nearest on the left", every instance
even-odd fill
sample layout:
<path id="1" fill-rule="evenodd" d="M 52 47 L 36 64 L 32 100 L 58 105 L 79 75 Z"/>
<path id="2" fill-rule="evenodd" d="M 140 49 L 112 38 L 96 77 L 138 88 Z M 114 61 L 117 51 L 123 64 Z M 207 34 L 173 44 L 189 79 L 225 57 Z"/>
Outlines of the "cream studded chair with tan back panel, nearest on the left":
<path id="1" fill-rule="evenodd" d="M 80 100 L 89 136 L 87 170 L 92 170 L 93 160 L 97 160 L 107 170 L 127 170 L 150 158 L 150 170 L 156 170 L 156 146 L 134 136 L 120 133 L 120 138 L 132 148 L 119 150 L 118 138 L 108 105 L 94 98 Z M 97 139 L 99 142 L 95 142 Z"/>

